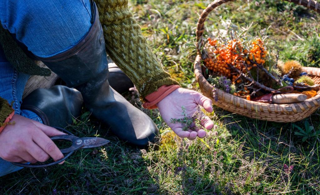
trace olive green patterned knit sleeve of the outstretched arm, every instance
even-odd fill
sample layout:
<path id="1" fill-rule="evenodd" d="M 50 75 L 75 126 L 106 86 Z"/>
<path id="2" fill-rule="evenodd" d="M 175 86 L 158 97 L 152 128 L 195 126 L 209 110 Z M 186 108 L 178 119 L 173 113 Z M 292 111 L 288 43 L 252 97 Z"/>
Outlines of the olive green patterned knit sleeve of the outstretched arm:
<path id="1" fill-rule="evenodd" d="M 96 0 L 96 4 L 107 53 L 132 80 L 142 99 L 160 86 L 179 85 L 152 53 L 127 0 Z"/>

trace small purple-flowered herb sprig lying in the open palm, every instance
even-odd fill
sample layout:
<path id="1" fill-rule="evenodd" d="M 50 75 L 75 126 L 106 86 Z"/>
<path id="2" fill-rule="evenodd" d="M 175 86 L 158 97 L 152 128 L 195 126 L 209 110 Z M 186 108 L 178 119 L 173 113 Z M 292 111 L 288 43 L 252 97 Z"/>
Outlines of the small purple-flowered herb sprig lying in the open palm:
<path id="1" fill-rule="evenodd" d="M 180 123 L 182 125 L 183 131 L 188 131 L 189 129 L 192 131 L 196 131 L 201 128 L 201 120 L 204 119 L 205 114 L 201 110 L 200 106 L 196 107 L 196 111 L 192 116 L 187 116 L 186 108 L 181 106 L 183 118 L 171 118 L 170 123 Z"/>

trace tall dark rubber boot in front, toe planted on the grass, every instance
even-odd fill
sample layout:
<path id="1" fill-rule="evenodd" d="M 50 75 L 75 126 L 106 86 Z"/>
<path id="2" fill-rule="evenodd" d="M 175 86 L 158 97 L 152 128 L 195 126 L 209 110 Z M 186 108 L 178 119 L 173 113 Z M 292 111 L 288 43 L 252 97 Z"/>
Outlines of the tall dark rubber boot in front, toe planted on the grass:
<path id="1" fill-rule="evenodd" d="M 92 115 L 119 138 L 145 146 L 158 129 L 151 118 L 117 93 L 108 82 L 108 61 L 98 10 L 89 32 L 76 46 L 50 58 L 39 58 L 69 87 L 79 90 Z"/>

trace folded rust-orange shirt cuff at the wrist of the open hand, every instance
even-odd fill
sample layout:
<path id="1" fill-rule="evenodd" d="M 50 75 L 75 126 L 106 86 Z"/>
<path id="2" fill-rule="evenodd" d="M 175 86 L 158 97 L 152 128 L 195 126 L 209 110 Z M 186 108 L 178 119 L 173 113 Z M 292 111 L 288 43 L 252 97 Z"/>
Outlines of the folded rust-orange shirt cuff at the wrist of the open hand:
<path id="1" fill-rule="evenodd" d="M 178 88 L 180 88 L 179 85 L 163 85 L 159 87 L 157 91 L 145 97 L 147 101 L 144 104 L 142 104 L 142 107 L 146 109 L 158 108 L 156 104 Z"/>

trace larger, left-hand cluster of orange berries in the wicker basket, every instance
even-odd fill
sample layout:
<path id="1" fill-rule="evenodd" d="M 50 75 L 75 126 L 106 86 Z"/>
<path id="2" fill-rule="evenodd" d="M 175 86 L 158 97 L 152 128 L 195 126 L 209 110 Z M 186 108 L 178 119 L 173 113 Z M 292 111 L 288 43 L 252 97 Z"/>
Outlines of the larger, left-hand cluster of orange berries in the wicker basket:
<path id="1" fill-rule="evenodd" d="M 243 57 L 241 57 L 240 54 L 248 51 L 243 49 L 241 42 L 236 39 L 228 41 L 227 45 L 217 45 L 217 40 L 208 38 L 208 43 L 214 46 L 214 49 L 209 50 L 209 52 L 214 53 L 214 55 L 209 54 L 209 56 L 204 59 L 205 66 L 209 70 L 231 79 L 232 75 L 235 76 L 235 72 L 230 70 L 228 64 L 234 65 L 240 70 L 242 68 L 241 64 L 244 63 Z M 233 79 L 233 81 L 234 80 L 235 79 Z"/>

